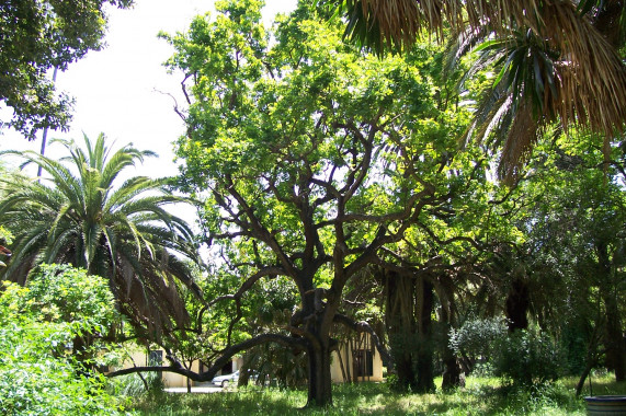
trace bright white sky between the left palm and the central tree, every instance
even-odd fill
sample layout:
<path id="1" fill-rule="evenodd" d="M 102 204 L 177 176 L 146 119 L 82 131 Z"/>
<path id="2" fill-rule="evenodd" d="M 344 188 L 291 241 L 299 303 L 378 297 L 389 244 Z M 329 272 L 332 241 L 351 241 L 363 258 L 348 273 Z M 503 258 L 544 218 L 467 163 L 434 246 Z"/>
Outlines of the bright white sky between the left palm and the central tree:
<path id="1" fill-rule="evenodd" d="M 296 0 L 266 3 L 263 19 L 269 25 L 276 12 L 293 10 Z M 70 130 L 50 130 L 48 140 L 79 141 L 83 132 L 90 138 L 104 132 L 115 140 L 115 148 L 132 142 L 140 150 L 159 154 L 137 167 L 135 174 L 175 175 L 172 142 L 182 135 L 184 126 L 173 111 L 173 100 L 180 106 L 184 104 L 180 85 L 183 76 L 168 73 L 162 66 L 173 49 L 157 34 L 184 32 L 193 16 L 207 11 L 215 14 L 213 0 L 136 0 L 129 10 L 109 8 L 106 46 L 90 51 L 57 74 L 57 88 L 73 96 L 76 103 Z M 39 151 L 41 132 L 33 142 L 11 130 L 0 134 L 0 150 Z M 59 148 L 48 147 L 46 155 L 56 157 Z"/>

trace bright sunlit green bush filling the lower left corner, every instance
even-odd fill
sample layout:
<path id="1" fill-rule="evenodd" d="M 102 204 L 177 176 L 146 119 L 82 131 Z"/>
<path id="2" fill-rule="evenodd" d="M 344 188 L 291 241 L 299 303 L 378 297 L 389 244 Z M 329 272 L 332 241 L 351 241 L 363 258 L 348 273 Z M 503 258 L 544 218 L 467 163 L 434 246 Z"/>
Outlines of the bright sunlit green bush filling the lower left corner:
<path id="1" fill-rule="evenodd" d="M 71 280 L 89 280 L 88 286 L 100 288 L 95 292 L 102 292 L 106 282 L 87 276 L 84 270 L 49 267 L 49 273 L 33 277 L 33 290 L 4 284 L 0 291 L 0 414 L 119 415 L 123 411 L 117 401 L 103 389 L 104 377 L 86 375 L 71 350 L 77 336 L 103 324 L 99 321 L 103 316 L 81 317 L 81 311 L 100 311 L 107 316 L 106 307 L 91 304 L 98 302 L 89 299 L 93 291 L 79 296 L 86 282 L 71 285 Z M 42 284 L 43 276 L 50 274 L 55 278 Z M 45 293 L 66 291 L 73 291 L 78 302 L 64 303 L 62 297 L 45 300 Z"/>

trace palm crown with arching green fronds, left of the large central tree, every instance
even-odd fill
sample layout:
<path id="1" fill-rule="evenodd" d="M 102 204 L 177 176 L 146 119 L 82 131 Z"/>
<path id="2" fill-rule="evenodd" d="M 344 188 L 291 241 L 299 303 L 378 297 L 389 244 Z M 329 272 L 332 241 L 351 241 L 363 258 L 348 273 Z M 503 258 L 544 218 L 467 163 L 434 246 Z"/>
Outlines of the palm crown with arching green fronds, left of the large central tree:
<path id="1" fill-rule="evenodd" d="M 0 153 L 44 171 L 41 180 L 0 178 L 0 223 L 14 236 L 2 277 L 25 284 L 41 263 L 68 263 L 107 278 L 118 308 L 145 335 L 159 338 L 184 325 L 178 282 L 200 296 L 187 267 L 197 252 L 187 223 L 164 207 L 186 200 L 167 190 L 168 178 L 134 176 L 116 185 L 126 167 L 155 153 L 132 145 L 112 152 L 104 135 L 95 143 L 84 136 L 86 150 L 56 141 L 69 153 L 60 161 L 33 151 Z"/>

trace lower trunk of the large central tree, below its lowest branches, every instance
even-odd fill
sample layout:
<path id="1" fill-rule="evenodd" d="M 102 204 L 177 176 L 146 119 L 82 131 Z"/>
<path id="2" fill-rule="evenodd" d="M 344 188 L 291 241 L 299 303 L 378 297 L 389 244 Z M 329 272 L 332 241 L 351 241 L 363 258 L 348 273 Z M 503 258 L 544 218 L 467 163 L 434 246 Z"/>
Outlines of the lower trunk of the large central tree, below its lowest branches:
<path id="1" fill-rule="evenodd" d="M 329 340 L 330 339 L 322 343 L 321 348 L 311 346 L 307 350 L 309 361 L 309 394 L 307 407 L 332 405 Z"/>

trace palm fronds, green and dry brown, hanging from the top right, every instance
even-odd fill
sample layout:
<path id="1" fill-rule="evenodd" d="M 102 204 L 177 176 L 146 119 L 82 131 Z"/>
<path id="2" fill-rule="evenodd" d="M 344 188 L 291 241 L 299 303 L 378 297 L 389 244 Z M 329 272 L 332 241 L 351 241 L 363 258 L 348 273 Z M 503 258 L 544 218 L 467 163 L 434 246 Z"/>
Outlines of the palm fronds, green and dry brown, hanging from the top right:
<path id="1" fill-rule="evenodd" d="M 488 60 L 500 74 L 480 108 L 486 111 L 482 127 L 504 123 L 500 166 L 504 178 L 519 175 L 537 135 L 554 122 L 564 129 L 577 125 L 600 132 L 606 157 L 610 140 L 626 127 L 626 68 L 617 53 L 625 39 L 622 1 L 341 0 L 339 4 L 348 19 L 345 35 L 377 53 L 408 48 L 423 31 L 443 38 L 444 27 L 453 36 L 465 36 L 465 45 L 473 45 L 465 41 L 480 34 L 489 39 L 490 51 L 500 48 L 498 59 Z"/>

